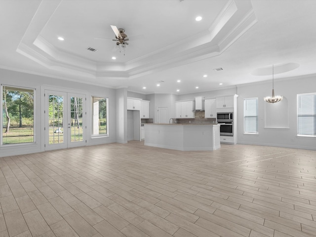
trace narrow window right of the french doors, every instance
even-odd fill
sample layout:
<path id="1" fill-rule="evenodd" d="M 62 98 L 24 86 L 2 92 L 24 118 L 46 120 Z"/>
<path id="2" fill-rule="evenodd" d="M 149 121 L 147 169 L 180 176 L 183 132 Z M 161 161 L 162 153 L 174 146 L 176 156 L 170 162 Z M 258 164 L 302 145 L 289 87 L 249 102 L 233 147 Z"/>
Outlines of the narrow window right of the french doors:
<path id="1" fill-rule="evenodd" d="M 92 137 L 108 136 L 108 98 L 92 96 Z"/>

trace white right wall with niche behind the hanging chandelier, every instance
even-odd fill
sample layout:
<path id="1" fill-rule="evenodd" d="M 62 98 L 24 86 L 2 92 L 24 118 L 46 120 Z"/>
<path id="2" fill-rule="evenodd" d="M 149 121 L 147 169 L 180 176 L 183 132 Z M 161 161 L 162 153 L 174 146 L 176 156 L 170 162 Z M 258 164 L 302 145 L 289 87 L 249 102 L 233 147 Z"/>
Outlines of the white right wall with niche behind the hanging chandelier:
<path id="1" fill-rule="evenodd" d="M 237 143 L 316 150 L 316 137 L 297 136 L 296 105 L 297 94 L 316 92 L 316 76 L 275 80 L 274 88 L 276 95 L 283 95 L 284 101 L 266 105 L 263 97 L 271 95 L 272 81 L 238 86 Z M 258 135 L 243 134 L 243 99 L 252 97 L 258 97 Z M 278 107 L 275 111 L 283 118 L 280 120 L 276 114 L 269 113 L 271 110 L 267 111 L 267 106 Z M 269 119 L 270 127 L 265 127 L 266 119 Z M 276 126 L 282 128 L 271 128 L 273 119 L 276 119 Z"/>

